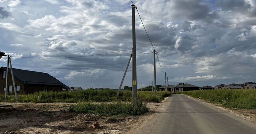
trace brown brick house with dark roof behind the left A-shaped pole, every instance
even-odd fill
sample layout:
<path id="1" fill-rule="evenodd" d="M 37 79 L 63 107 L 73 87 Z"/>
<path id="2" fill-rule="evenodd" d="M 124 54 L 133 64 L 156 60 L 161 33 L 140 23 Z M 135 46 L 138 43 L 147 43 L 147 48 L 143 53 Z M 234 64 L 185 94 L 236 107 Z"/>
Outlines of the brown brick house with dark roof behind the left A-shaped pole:
<path id="1" fill-rule="evenodd" d="M 62 91 L 63 88 L 67 87 L 65 84 L 47 73 L 16 68 L 12 68 L 12 70 L 18 93 L 28 94 L 38 91 Z M 8 75 L 7 90 L 10 93 L 14 93 L 10 68 L 8 70 L 8 74 L 6 74 L 6 71 L 6 67 L 0 68 L 0 93 L 4 92 L 4 88 L 6 86 L 6 75 Z"/>

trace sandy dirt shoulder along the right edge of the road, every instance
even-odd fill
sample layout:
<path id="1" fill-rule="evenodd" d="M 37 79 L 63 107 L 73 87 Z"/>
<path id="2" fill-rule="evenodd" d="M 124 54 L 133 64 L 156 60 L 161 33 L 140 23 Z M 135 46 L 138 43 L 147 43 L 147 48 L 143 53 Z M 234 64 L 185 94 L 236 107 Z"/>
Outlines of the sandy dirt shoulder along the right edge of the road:
<path id="1" fill-rule="evenodd" d="M 240 110 L 228 109 L 228 108 L 222 107 L 220 104 L 209 103 L 208 101 L 206 101 L 204 99 L 198 99 L 198 98 L 194 98 L 194 97 L 191 97 L 191 96 L 188 96 L 188 97 L 190 97 L 192 99 L 196 99 L 196 100 L 198 100 L 200 102 L 203 102 L 203 103 L 206 103 L 208 105 L 211 105 L 212 107 L 216 107 L 216 108 L 218 108 L 222 111 L 232 113 L 233 115 L 236 115 L 240 118 L 243 118 L 245 120 L 248 120 L 248 121 L 256 124 L 256 109 L 240 109 Z"/>

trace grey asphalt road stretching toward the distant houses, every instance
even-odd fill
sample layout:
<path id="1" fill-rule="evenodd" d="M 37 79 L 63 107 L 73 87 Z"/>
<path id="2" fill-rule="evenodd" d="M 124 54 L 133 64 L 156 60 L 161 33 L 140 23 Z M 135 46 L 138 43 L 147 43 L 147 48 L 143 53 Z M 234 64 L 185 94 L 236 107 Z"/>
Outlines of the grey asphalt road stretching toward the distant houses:
<path id="1" fill-rule="evenodd" d="M 173 94 L 164 111 L 145 121 L 135 134 L 256 134 L 256 124 L 232 113 Z"/>

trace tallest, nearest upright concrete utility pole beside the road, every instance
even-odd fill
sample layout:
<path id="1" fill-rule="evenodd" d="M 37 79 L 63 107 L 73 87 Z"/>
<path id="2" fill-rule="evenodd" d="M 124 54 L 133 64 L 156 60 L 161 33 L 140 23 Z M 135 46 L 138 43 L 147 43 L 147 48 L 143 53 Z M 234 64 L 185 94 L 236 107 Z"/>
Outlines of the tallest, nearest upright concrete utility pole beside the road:
<path id="1" fill-rule="evenodd" d="M 135 6 L 132 4 L 132 89 L 134 106 L 137 105 L 137 68 L 136 68 L 136 34 L 135 34 Z"/>

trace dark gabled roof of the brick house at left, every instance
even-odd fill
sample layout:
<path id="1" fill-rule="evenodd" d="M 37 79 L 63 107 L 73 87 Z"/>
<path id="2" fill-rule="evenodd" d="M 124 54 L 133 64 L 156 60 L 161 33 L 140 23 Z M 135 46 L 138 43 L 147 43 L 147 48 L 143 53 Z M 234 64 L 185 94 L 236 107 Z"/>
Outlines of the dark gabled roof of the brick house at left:
<path id="1" fill-rule="evenodd" d="M 0 69 L 6 70 L 6 67 L 1 67 Z M 25 84 L 41 84 L 41 85 L 61 85 L 66 86 L 53 76 L 50 76 L 47 73 L 42 72 L 35 72 L 35 71 L 28 71 L 28 70 L 21 70 L 12 68 L 13 74 L 16 78 L 20 81 L 24 82 Z M 10 68 L 9 71 L 10 73 Z"/>

